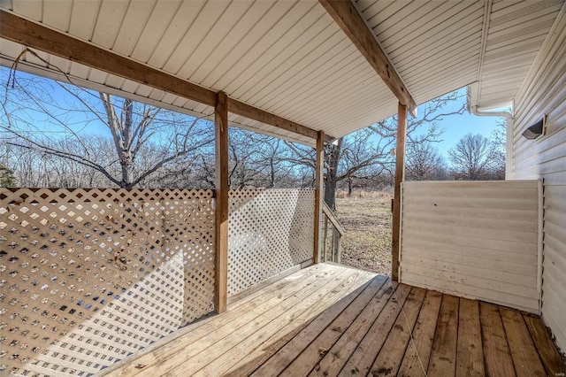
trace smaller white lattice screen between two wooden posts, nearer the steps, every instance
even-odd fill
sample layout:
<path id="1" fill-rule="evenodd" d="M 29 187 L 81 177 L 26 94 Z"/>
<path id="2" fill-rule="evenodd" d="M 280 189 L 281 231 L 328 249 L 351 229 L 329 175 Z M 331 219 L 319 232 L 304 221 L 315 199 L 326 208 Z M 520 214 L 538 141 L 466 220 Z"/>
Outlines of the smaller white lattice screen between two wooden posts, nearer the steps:
<path id="1" fill-rule="evenodd" d="M 313 189 L 231 190 L 228 295 L 313 256 Z"/>

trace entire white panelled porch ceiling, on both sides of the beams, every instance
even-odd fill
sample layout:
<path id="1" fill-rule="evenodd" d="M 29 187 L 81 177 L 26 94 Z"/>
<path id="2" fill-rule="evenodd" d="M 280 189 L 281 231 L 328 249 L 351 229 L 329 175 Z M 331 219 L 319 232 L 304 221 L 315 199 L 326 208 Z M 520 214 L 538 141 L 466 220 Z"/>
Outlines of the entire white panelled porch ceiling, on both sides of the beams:
<path id="1" fill-rule="evenodd" d="M 478 106 L 509 104 L 564 1 L 354 2 L 422 104 L 479 81 Z M 123 57 L 339 137 L 386 119 L 397 99 L 315 1 L 1 0 L 0 8 Z M 1 20 L 0 20 L 1 21 Z M 2 65 L 24 49 L 1 40 Z M 187 113 L 204 104 L 40 54 L 77 83 Z M 30 56 L 22 69 L 60 76 Z M 309 137 L 231 114 L 240 127 Z"/>

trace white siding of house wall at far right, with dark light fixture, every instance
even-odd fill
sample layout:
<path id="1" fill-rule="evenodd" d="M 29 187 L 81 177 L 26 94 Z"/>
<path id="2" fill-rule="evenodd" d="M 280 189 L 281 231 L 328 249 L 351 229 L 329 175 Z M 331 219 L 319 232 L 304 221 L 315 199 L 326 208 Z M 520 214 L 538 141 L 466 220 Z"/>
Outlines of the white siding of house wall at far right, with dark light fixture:
<path id="1" fill-rule="evenodd" d="M 566 349 L 566 9 L 516 97 L 515 178 L 544 180 L 542 318 Z M 547 135 L 521 136 L 547 115 Z"/>

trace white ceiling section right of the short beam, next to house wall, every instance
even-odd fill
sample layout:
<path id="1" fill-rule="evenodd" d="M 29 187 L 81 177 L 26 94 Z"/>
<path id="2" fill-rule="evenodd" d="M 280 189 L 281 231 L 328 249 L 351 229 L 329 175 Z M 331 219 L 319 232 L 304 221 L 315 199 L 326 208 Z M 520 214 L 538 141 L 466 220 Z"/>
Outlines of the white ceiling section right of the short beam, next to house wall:
<path id="1" fill-rule="evenodd" d="M 512 104 L 564 1 L 355 4 L 418 104 L 478 82 L 491 109 Z"/>

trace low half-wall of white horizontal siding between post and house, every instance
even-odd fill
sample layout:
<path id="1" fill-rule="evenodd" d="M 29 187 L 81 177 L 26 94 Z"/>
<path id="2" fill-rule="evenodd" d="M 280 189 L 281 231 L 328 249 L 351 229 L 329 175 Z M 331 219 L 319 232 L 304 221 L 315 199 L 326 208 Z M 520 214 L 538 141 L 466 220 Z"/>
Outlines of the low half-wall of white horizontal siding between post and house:
<path id="1" fill-rule="evenodd" d="M 539 182 L 403 182 L 401 281 L 539 312 Z"/>

